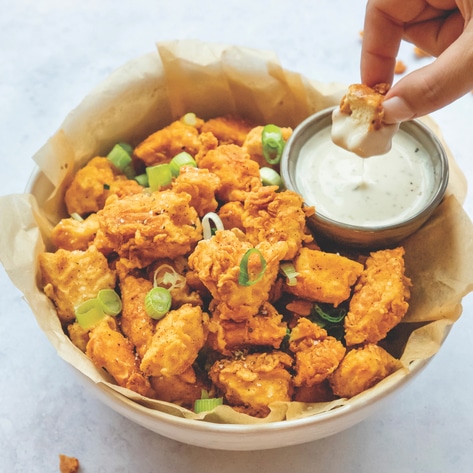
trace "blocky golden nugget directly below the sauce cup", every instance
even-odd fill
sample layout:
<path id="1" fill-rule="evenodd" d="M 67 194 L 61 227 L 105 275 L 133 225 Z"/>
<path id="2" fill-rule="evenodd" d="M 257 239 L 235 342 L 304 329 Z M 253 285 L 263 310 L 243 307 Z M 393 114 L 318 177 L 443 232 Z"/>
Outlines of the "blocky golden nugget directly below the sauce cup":
<path id="1" fill-rule="evenodd" d="M 363 265 L 335 253 L 301 248 L 294 259 L 297 284 L 286 290 L 302 299 L 335 307 L 347 300 Z"/>

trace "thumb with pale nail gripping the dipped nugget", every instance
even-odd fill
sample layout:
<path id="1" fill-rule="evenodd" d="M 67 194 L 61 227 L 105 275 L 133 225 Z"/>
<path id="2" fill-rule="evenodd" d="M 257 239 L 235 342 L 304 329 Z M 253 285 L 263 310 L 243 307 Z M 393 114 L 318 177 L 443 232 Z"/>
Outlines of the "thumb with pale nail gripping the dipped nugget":
<path id="1" fill-rule="evenodd" d="M 435 61 L 391 88 L 383 103 L 384 119 L 397 123 L 426 115 L 472 89 L 473 31 L 465 30 Z"/>

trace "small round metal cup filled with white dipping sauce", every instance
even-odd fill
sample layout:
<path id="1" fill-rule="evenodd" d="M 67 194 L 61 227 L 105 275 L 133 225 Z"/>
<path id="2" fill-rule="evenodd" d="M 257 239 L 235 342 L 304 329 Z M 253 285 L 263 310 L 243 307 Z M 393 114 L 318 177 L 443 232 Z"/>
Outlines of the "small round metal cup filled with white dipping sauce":
<path id="1" fill-rule="evenodd" d="M 402 123 L 391 150 L 361 158 L 331 139 L 333 108 L 308 117 L 286 143 L 281 176 L 288 189 L 314 206 L 317 238 L 381 248 L 415 232 L 441 202 L 448 157 L 421 121 Z"/>

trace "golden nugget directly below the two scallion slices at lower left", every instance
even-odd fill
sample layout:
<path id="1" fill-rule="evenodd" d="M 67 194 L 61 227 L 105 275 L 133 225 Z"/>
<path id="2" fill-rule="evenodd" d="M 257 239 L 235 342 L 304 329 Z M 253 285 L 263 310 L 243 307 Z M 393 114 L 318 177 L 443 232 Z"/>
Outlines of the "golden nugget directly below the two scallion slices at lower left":
<path id="1" fill-rule="evenodd" d="M 86 354 L 97 368 L 104 368 L 119 386 L 143 396 L 150 395 L 149 381 L 139 369 L 133 345 L 118 331 L 113 318 L 107 317 L 90 331 Z"/>

